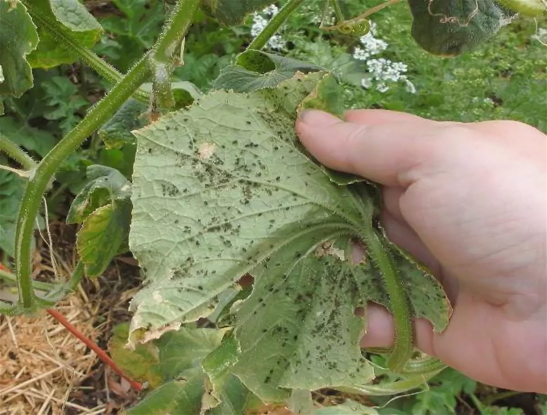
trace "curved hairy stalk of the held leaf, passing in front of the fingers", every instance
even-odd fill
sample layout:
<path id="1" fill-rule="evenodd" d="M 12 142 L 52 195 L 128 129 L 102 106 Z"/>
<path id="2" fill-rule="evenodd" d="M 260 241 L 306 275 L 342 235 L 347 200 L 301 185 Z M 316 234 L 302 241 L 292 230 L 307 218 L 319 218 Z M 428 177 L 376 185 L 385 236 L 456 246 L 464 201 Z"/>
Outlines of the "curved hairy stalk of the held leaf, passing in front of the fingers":
<path id="1" fill-rule="evenodd" d="M 414 346 L 411 316 L 403 281 L 399 277 L 391 258 L 389 258 L 389 254 L 387 253 L 389 248 L 385 244 L 382 244 L 375 230 L 370 229 L 362 237 L 363 242 L 370 252 L 370 256 L 382 274 L 395 321 L 395 343 L 393 345 L 393 352 L 389 355 L 386 365 L 391 370 L 400 371 L 403 369 L 406 361 L 412 356 Z"/>

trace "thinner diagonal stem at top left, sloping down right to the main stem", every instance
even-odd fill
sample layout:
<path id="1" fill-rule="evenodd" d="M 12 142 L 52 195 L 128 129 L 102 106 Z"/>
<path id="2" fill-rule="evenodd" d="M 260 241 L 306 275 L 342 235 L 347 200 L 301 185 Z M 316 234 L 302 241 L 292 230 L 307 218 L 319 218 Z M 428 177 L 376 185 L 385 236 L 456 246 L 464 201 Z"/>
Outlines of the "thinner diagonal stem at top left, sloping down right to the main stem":
<path id="1" fill-rule="evenodd" d="M 72 50 L 74 54 L 80 56 L 91 69 L 95 70 L 95 72 L 101 75 L 104 79 L 112 82 L 112 84 L 117 84 L 124 78 L 123 74 L 118 72 L 118 70 L 109 63 L 103 61 L 100 57 L 95 55 L 93 51 L 80 45 L 78 41 L 76 41 L 72 35 L 60 25 L 59 22 L 52 21 L 51 17 L 44 14 L 42 10 L 39 10 L 39 8 L 32 4 L 30 0 L 24 0 L 23 3 L 28 9 L 28 12 L 32 17 L 32 21 L 37 27 L 51 34 L 57 41 L 59 41 L 59 43 L 62 43 L 67 47 L 67 49 Z M 135 92 L 135 98 L 144 103 L 148 103 L 150 100 L 148 92 L 143 90 L 137 90 Z"/>

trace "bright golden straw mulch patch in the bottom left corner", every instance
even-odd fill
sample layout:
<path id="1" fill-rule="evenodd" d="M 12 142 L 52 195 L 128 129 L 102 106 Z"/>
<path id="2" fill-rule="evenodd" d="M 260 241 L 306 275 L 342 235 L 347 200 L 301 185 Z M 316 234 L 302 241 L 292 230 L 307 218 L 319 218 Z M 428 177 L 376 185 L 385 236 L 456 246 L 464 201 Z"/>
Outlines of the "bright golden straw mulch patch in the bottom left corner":
<path id="1" fill-rule="evenodd" d="M 96 304 L 85 293 L 72 295 L 57 310 L 97 339 Z M 36 318 L 0 317 L 0 415 L 56 415 L 66 407 L 102 413 L 104 405 L 89 411 L 68 400 L 96 363 L 95 353 L 45 312 Z"/>

